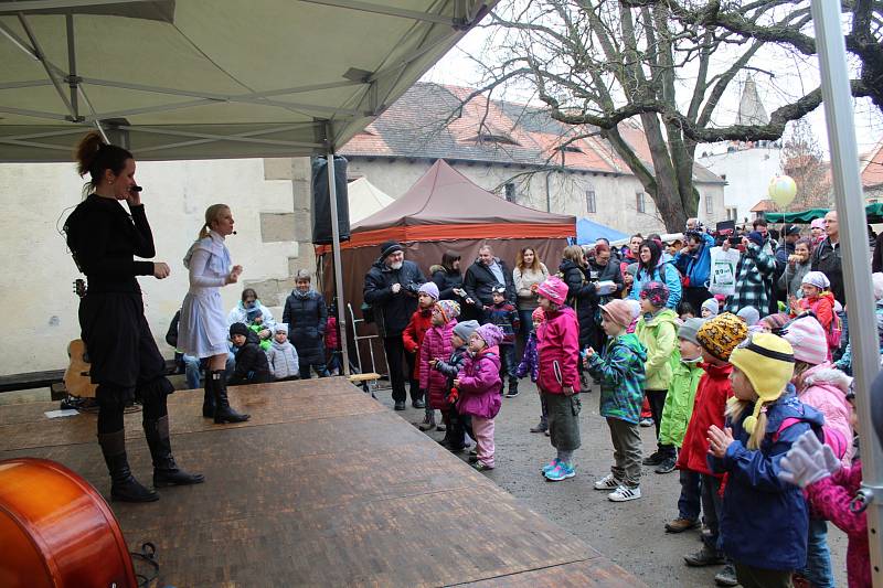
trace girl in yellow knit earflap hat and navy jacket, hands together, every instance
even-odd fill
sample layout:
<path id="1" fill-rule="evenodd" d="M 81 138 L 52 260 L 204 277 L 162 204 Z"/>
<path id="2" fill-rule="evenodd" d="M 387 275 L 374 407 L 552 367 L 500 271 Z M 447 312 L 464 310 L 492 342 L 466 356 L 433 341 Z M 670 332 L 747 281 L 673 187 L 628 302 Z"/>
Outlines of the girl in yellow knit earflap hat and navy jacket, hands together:
<path id="1" fill-rule="evenodd" d="M 821 437 L 823 417 L 797 399 L 789 383 L 794 350 L 755 333 L 730 355 L 734 397 L 726 427 L 709 428 L 709 466 L 726 472 L 723 549 L 745 588 L 791 586 L 806 564 L 808 512 L 799 488 L 783 482 L 779 461 L 804 432 Z"/>

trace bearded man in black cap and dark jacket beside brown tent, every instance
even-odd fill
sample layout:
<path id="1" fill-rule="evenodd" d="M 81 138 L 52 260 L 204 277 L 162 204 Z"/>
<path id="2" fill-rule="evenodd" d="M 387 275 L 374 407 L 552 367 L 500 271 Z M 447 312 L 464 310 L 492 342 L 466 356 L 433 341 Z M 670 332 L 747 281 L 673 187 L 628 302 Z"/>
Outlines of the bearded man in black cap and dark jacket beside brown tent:
<path id="1" fill-rule="evenodd" d="M 405 353 L 402 331 L 417 310 L 417 290 L 425 281 L 417 264 L 405 260 L 402 245 L 394 240 L 381 245 L 380 257 L 365 275 L 364 300 L 371 304 L 377 334 L 383 338 L 396 410 L 405 409 L 403 359 L 407 363 L 407 373 L 414 373 L 414 356 Z M 422 403 L 419 389 L 414 386 L 411 389 L 411 402 L 413 405 Z"/>

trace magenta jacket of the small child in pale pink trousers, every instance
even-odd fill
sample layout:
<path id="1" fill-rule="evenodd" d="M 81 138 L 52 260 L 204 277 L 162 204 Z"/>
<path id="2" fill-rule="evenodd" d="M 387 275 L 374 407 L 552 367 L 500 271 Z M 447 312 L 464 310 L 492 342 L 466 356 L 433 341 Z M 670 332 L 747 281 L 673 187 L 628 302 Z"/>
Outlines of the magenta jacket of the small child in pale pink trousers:
<path id="1" fill-rule="evenodd" d="M 481 350 L 475 357 L 467 354 L 457 377 L 460 381 L 457 411 L 479 418 L 496 417 L 503 387 L 499 348 Z"/>

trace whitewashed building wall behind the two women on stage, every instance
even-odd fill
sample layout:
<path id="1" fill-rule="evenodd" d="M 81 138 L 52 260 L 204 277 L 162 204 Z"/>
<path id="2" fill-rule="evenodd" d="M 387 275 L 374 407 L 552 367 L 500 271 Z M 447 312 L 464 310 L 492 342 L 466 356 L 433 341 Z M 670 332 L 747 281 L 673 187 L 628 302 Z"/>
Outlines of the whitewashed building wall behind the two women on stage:
<path id="1" fill-rule="evenodd" d="M 292 182 L 265 180 L 263 160 L 139 162 L 136 179 L 145 188 L 155 259 L 172 270 L 164 280 L 139 278 L 147 319 L 163 353 L 171 355 L 163 338 L 188 290 L 181 259 L 210 204 L 232 206 L 238 235 L 227 244 L 234 263 L 244 266 L 245 282 L 288 277 L 289 258 L 298 256 L 298 244 L 264 243 L 260 213 L 291 213 Z M 71 284 L 81 276 L 58 231 L 81 201 L 82 185 L 73 163 L 0 165 L 4 257 L 0 306 L 14 325 L 0 338 L 0 374 L 64 367 L 67 342 L 79 336 L 78 299 Z M 312 253 L 307 253 L 312 264 Z M 242 287 L 222 291 L 225 307 L 232 308 Z"/>

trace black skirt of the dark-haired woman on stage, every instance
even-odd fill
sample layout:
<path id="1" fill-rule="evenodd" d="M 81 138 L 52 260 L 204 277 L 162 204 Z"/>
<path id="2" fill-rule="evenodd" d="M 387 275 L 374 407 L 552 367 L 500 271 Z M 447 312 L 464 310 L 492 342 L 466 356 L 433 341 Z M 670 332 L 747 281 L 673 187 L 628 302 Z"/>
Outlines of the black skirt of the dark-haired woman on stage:
<path id="1" fill-rule="evenodd" d="M 172 392 L 140 292 L 87 293 L 79 302 L 79 328 L 92 382 L 103 385 L 99 394 L 113 391 L 128 400 Z"/>

